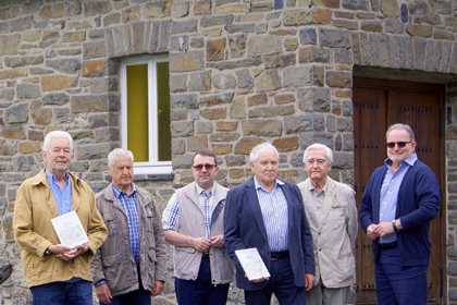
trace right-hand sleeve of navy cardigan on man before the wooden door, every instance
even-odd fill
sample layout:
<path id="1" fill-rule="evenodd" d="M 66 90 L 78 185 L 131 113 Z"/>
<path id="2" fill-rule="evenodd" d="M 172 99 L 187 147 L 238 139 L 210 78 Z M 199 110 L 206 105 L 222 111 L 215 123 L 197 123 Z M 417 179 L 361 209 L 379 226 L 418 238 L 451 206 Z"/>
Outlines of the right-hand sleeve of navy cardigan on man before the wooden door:
<path id="1" fill-rule="evenodd" d="M 440 185 L 429 168 L 418 171 L 413 187 L 418 208 L 400 217 L 404 229 L 431 221 L 440 210 Z"/>

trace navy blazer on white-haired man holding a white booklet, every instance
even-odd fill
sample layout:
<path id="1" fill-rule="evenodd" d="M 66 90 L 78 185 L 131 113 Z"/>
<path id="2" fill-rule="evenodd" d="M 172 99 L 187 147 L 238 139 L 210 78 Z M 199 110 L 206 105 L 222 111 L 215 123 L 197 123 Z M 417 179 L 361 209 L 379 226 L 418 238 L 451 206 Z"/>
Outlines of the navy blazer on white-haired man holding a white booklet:
<path id="1" fill-rule="evenodd" d="M 280 187 L 287 199 L 288 252 L 294 282 L 297 286 L 305 286 L 305 273 L 314 273 L 312 236 L 298 187 L 289 183 Z M 235 256 L 236 249 L 257 247 L 263 263 L 270 269 L 270 246 L 252 178 L 227 193 L 224 235 L 226 252 L 236 265 L 237 286 L 245 290 L 259 290 L 264 286 L 267 281 L 256 284 L 245 277 Z"/>

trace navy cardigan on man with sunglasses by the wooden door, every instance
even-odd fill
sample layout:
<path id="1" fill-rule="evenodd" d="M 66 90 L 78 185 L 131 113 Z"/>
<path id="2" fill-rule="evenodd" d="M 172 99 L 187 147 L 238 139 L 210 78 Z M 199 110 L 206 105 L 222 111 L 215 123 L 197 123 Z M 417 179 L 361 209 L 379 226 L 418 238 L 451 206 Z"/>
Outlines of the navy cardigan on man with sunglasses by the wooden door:
<path id="1" fill-rule="evenodd" d="M 359 211 L 363 231 L 380 222 L 380 194 L 386 166 L 372 173 Z M 395 218 L 403 229 L 397 234 L 403 266 L 427 266 L 430 256 L 429 224 L 440 210 L 440 185 L 433 171 L 423 162 L 416 163 L 405 174 L 399 191 Z M 374 257 L 379 257 L 378 240 L 373 242 Z"/>

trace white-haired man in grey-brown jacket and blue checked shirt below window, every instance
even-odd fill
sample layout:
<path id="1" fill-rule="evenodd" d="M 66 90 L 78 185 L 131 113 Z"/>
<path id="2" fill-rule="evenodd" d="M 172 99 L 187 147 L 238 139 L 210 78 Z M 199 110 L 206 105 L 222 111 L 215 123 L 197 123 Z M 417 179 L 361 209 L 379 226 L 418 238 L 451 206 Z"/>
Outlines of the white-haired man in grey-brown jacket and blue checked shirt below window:
<path id="1" fill-rule="evenodd" d="M 111 183 L 97 194 L 109 235 L 92 260 L 100 304 L 150 305 L 165 281 L 165 241 L 151 195 L 134 182 L 132 151 L 108 155 Z"/>

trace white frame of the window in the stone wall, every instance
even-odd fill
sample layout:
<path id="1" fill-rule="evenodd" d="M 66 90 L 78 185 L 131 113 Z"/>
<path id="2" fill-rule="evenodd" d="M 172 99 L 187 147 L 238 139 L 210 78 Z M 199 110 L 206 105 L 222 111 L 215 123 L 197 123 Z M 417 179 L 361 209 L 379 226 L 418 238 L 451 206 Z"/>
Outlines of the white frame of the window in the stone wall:
<path id="1" fill-rule="evenodd" d="M 121 63 L 121 145 L 127 149 L 127 65 L 148 65 L 148 152 L 149 161 L 134 162 L 135 174 L 171 174 L 173 173 L 172 161 L 158 161 L 159 127 L 158 127 L 158 93 L 157 93 L 157 63 L 168 62 L 169 57 L 133 57 Z M 151 137 L 152 135 L 152 137 Z"/>

